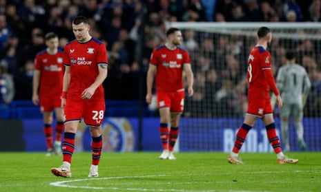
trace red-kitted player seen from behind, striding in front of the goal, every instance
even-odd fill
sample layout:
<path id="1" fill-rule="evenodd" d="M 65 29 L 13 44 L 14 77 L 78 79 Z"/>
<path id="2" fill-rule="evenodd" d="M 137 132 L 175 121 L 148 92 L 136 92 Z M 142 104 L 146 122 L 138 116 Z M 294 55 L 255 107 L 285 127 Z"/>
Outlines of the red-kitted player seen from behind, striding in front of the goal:
<path id="1" fill-rule="evenodd" d="M 266 134 L 275 151 L 278 163 L 297 163 L 297 159 L 291 159 L 282 153 L 280 139 L 275 130 L 273 109 L 269 90 L 271 89 L 276 96 L 278 107 L 282 107 L 282 98 L 271 70 L 271 54 L 266 48 L 271 45 L 271 30 L 261 27 L 257 30 L 257 45 L 249 54 L 247 80 L 249 82 L 249 105 L 246 111 L 243 125 L 238 129 L 234 147 L 228 156 L 228 162 L 233 164 L 243 164 L 239 157 L 239 151 L 245 141 L 250 129 L 254 126 L 257 118 L 261 118 L 266 127 Z"/>

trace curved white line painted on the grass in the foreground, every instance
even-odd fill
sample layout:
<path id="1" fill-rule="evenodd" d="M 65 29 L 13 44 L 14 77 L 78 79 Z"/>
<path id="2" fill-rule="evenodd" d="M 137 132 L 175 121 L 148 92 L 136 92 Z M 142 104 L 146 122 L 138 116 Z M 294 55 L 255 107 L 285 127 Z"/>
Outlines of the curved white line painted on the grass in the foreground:
<path id="1" fill-rule="evenodd" d="M 194 174 L 193 174 L 194 175 Z M 198 175 L 198 174 L 195 174 Z M 175 191 L 175 192 L 215 192 L 217 190 L 186 190 L 186 189 L 144 189 L 144 188 L 119 188 L 119 187 L 101 187 L 101 186 L 75 186 L 68 185 L 66 183 L 70 182 L 83 182 L 88 180 L 113 180 L 113 179 L 126 179 L 126 178 L 153 178 L 153 177 L 166 177 L 168 175 L 142 175 L 142 176 L 124 176 L 124 177 L 110 177 L 110 178 L 86 178 L 86 179 L 78 179 L 78 180 L 66 180 L 61 182 L 50 182 L 52 186 L 60 186 L 60 187 L 68 187 L 68 188 L 76 188 L 76 189 L 110 189 L 110 190 L 126 190 L 126 191 Z M 251 191 L 233 191 L 227 190 L 229 192 L 251 192 Z M 257 191 L 260 192 L 260 191 Z M 264 191 L 267 192 L 267 191 Z"/>

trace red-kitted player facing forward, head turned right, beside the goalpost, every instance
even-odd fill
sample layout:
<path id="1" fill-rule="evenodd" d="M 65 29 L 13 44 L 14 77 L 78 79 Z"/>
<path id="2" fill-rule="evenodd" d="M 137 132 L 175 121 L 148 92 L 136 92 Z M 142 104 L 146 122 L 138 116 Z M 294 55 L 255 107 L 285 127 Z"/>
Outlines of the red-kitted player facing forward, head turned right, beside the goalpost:
<path id="1" fill-rule="evenodd" d="M 159 133 L 162 140 L 160 159 L 175 160 L 173 149 L 179 134 L 179 117 L 184 111 L 183 70 L 186 73 L 188 96 L 193 96 L 193 72 L 191 61 L 182 44 L 182 32 L 170 28 L 166 32 L 167 42 L 153 50 L 147 73 L 146 102 L 152 101 L 152 88 L 155 77 L 157 107 L 160 115 Z M 168 129 L 171 125 L 171 129 Z"/>

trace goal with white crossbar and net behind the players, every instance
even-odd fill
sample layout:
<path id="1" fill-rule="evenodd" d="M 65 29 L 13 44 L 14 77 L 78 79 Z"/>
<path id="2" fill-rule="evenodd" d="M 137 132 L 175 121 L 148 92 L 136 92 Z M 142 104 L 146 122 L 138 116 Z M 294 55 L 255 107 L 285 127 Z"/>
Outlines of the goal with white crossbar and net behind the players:
<path id="1" fill-rule="evenodd" d="M 295 50 L 311 80 L 304 107 L 304 140 L 308 151 L 321 151 L 321 30 L 318 23 L 171 23 L 182 30 L 183 47 L 191 56 L 194 91 L 186 98 L 180 122 L 180 151 L 230 152 L 235 133 L 247 107 L 246 70 L 251 48 L 260 26 L 269 27 L 273 40 L 269 51 L 273 74 L 285 63 L 285 52 Z M 280 135 L 279 110 L 275 125 Z M 291 151 L 300 151 L 293 120 L 289 122 Z M 272 152 L 260 119 L 249 132 L 244 152 Z"/>

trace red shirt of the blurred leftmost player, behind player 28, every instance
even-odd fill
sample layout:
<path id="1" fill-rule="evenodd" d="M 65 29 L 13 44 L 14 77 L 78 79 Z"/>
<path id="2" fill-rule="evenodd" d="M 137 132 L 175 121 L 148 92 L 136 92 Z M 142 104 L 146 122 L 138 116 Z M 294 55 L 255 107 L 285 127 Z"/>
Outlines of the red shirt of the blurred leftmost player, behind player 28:
<path id="1" fill-rule="evenodd" d="M 64 78 L 64 52 L 49 54 L 43 50 L 35 56 L 35 69 L 40 71 L 39 97 L 60 96 Z"/>

